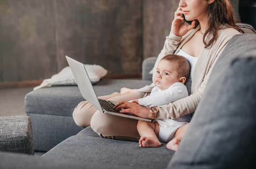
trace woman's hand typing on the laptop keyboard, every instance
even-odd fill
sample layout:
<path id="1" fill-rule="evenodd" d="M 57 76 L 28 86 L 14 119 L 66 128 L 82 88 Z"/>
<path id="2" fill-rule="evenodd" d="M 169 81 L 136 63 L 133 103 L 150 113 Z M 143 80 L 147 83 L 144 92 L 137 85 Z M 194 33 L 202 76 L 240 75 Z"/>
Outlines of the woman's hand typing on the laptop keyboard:
<path id="1" fill-rule="evenodd" d="M 141 106 L 137 103 L 120 101 L 115 107 L 113 107 L 115 110 L 119 110 L 121 108 L 123 108 L 123 110 L 120 111 L 121 113 L 133 113 L 134 115 L 145 119 L 151 118 L 151 112 L 149 111 L 149 108 Z"/>

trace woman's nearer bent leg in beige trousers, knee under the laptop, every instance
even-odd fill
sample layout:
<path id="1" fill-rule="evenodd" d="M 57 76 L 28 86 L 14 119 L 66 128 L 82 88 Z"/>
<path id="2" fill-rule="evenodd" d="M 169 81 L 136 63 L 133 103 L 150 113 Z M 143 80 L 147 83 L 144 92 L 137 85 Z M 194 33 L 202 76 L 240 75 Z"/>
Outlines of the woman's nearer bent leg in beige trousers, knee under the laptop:
<path id="1" fill-rule="evenodd" d="M 111 101 L 131 101 L 143 98 L 149 93 L 134 92 L 117 97 L 112 97 Z M 96 111 L 91 118 L 91 128 L 104 138 L 116 140 L 138 141 L 140 136 L 137 131 L 138 120 L 124 118 L 116 115 L 108 115 L 100 111 Z"/>

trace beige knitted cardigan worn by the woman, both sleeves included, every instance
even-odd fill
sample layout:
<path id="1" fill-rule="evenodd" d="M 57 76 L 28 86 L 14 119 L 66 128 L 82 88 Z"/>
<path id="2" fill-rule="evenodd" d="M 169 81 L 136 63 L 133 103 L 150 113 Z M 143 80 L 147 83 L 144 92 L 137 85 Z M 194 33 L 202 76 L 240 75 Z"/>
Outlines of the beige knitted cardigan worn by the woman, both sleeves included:
<path id="1" fill-rule="evenodd" d="M 164 47 L 158 55 L 154 65 L 153 82 L 158 62 L 168 54 L 177 54 L 181 47 L 194 36 L 199 29 L 200 25 L 197 26 L 196 29 L 190 30 L 183 37 L 176 36 L 170 32 L 169 36 L 166 37 Z M 196 111 L 196 107 L 202 97 L 213 66 L 223 49 L 226 47 L 226 44 L 237 34 L 240 34 L 240 32 L 232 28 L 222 27 L 222 29 L 219 30 L 217 40 L 215 40 L 211 47 L 204 48 L 204 46 L 197 59 L 193 72 L 191 95 L 172 103 L 158 106 L 159 113 L 157 119 L 177 119 L 182 115 L 187 115 Z M 212 36 L 209 36 L 208 38 L 210 39 L 211 37 Z M 155 84 L 152 83 L 150 86 L 145 86 L 137 91 L 151 92 L 154 86 Z"/>

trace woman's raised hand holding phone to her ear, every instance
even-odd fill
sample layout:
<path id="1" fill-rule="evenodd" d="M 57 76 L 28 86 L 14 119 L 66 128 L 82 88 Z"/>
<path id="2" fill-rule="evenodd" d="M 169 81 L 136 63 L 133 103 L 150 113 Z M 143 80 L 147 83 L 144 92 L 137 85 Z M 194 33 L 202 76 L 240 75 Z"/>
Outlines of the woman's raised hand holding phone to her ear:
<path id="1" fill-rule="evenodd" d="M 178 7 L 175 12 L 175 18 L 172 22 L 171 32 L 173 32 L 176 36 L 184 36 L 188 31 L 195 27 L 196 21 L 194 20 L 191 25 L 185 25 L 184 18 L 181 17 L 181 14 L 185 14 L 184 11 L 181 10 L 181 7 Z"/>

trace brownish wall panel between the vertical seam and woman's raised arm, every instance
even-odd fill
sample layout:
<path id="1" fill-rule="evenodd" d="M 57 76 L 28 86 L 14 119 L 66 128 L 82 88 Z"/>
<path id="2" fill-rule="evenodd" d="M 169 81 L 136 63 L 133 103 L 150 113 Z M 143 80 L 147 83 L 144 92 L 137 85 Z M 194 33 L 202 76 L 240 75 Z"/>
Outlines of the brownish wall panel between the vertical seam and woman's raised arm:
<path id="1" fill-rule="evenodd" d="M 143 58 L 158 56 L 169 35 L 179 0 L 143 0 Z"/>

